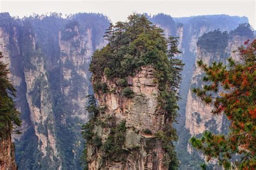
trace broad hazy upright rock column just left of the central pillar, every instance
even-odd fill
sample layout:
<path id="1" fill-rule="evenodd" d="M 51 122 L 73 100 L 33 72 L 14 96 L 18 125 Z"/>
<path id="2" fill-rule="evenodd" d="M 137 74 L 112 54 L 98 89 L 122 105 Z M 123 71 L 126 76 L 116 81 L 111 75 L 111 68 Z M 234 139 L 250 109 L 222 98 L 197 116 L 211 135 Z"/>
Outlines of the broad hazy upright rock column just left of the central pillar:
<path id="1" fill-rule="evenodd" d="M 76 36 L 68 40 L 62 39 L 62 33 L 75 32 Z M 82 121 L 87 121 L 85 105 L 90 87 L 89 63 L 93 54 L 93 37 L 91 28 L 84 33 L 79 32 L 78 25 L 59 32 L 60 63 L 63 81 L 61 89 L 65 100 L 70 104 L 71 114 Z M 98 46 L 104 46 L 106 41 Z M 66 86 L 66 84 L 69 86 Z M 74 89 L 76 89 L 74 91 Z"/>

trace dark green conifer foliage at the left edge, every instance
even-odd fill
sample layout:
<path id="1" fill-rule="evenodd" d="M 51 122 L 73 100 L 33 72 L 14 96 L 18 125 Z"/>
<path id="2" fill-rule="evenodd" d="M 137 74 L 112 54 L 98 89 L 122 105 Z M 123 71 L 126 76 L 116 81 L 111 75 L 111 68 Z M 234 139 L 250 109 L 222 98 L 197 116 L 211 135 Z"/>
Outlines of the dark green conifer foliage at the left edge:
<path id="1" fill-rule="evenodd" d="M 0 58 L 3 58 L 0 52 Z M 16 126 L 21 125 L 19 112 L 11 96 L 15 96 L 15 88 L 8 78 L 9 69 L 0 61 L 0 137 L 5 138 Z"/>

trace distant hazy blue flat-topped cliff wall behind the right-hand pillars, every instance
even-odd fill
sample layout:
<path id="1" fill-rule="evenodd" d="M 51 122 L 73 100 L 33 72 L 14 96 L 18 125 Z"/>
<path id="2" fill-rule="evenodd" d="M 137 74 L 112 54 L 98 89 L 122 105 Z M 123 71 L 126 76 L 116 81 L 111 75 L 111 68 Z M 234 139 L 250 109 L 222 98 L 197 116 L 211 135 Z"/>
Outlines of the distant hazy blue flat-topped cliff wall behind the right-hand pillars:
<path id="1" fill-rule="evenodd" d="M 204 33 L 217 29 L 220 29 L 220 31 L 234 30 L 239 24 L 248 23 L 248 19 L 246 17 L 230 17 L 226 15 L 172 18 L 171 16 L 160 14 L 150 18 L 150 20 L 163 28 L 167 36 L 173 35 L 180 38 L 178 47 L 183 53 L 179 57 L 183 60 L 185 66 L 179 90 L 181 95 L 179 124 L 175 126 L 178 130 L 182 130 L 186 121 L 186 99 L 194 63 L 196 62 L 198 38 L 203 36 Z"/>

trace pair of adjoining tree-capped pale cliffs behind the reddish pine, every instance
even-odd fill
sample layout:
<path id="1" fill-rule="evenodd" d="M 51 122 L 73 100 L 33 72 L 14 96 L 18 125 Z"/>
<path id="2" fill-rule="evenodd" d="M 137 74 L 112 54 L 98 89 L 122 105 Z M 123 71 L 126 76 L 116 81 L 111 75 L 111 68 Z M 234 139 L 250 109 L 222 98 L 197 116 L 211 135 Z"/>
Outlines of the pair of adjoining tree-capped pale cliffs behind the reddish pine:
<path id="1" fill-rule="evenodd" d="M 248 33 L 245 33 L 245 30 L 240 32 L 239 30 L 241 29 L 245 29 L 248 31 Z M 227 36 L 224 35 L 225 33 L 223 33 L 221 36 L 220 32 L 214 32 L 209 32 L 200 37 L 197 43 L 198 47 L 196 60 L 203 60 L 203 62 L 207 65 L 210 65 L 213 61 L 227 63 L 227 58 L 229 56 L 235 60 L 239 60 L 237 58 L 238 55 L 235 55 L 235 53 L 232 52 L 235 51 L 239 46 L 243 45 L 247 39 L 253 38 L 253 33 L 250 30 L 250 27 L 243 25 L 239 26 L 234 31 L 231 31 Z M 211 36 L 214 35 L 217 37 L 217 34 L 220 35 L 219 41 L 211 41 Z M 202 103 L 196 95 L 192 94 L 192 88 L 203 87 L 201 80 L 202 78 L 203 70 L 196 65 L 193 70 L 186 104 L 185 126 L 190 130 L 192 135 L 200 134 L 205 130 L 211 129 L 214 129 L 215 132 L 222 132 L 223 116 L 209 114 L 213 110 L 213 106 Z"/>

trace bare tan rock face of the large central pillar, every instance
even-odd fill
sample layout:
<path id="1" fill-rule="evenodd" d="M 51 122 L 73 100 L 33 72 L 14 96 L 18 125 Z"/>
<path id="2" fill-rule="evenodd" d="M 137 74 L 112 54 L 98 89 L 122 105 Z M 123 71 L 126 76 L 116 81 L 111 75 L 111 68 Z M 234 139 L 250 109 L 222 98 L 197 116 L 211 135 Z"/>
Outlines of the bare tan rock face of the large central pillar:
<path id="1" fill-rule="evenodd" d="M 101 82 L 107 84 L 110 92 L 95 95 L 99 107 L 105 108 L 97 119 L 107 126 L 96 124 L 92 131 L 106 146 L 113 127 L 123 123 L 125 130 L 119 138 L 124 138 L 124 141 L 119 147 L 124 152 L 118 154 L 116 159 L 109 159 L 105 157 L 104 147 L 98 150 L 89 144 L 89 169 L 167 169 L 163 144 L 154 136 L 161 129 L 165 115 L 159 112 L 159 90 L 153 72 L 152 66 L 143 66 L 134 76 L 127 77 L 127 83 L 134 91 L 132 98 L 121 95 L 121 87 L 116 83 L 118 80 L 102 77 Z"/>

